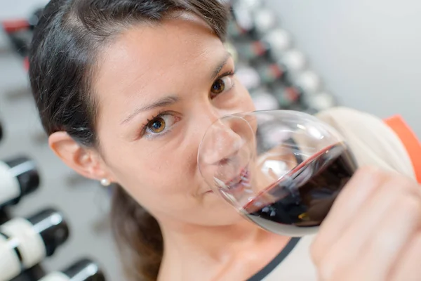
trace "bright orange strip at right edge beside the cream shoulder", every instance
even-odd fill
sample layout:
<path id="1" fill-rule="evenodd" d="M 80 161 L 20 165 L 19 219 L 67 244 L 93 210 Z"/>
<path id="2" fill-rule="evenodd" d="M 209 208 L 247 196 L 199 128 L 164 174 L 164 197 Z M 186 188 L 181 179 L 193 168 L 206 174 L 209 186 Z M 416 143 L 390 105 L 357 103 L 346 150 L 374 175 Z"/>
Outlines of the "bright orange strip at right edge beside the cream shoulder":
<path id="1" fill-rule="evenodd" d="M 421 143 L 418 141 L 415 133 L 410 129 L 410 126 L 406 124 L 405 120 L 400 115 L 392 116 L 385 119 L 386 124 L 394 130 L 394 132 L 401 139 L 403 146 L 410 157 L 410 161 L 413 164 L 415 176 L 418 183 L 421 183 Z"/>

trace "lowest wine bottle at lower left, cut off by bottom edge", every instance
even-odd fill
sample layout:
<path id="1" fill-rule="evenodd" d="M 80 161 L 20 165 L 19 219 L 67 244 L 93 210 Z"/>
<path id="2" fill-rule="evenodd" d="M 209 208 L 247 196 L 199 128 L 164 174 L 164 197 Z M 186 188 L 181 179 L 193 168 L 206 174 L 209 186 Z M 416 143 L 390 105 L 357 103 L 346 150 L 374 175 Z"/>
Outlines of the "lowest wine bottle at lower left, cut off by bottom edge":
<path id="1" fill-rule="evenodd" d="M 105 281 L 105 275 L 98 263 L 91 259 L 81 259 L 65 270 L 50 273 L 39 281 Z"/>

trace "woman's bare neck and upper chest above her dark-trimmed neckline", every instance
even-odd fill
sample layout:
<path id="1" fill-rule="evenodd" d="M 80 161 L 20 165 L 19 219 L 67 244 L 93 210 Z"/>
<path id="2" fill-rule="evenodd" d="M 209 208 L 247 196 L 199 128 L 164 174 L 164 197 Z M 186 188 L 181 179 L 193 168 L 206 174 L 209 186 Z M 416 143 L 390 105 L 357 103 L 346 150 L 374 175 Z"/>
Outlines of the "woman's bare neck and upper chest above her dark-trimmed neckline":
<path id="1" fill-rule="evenodd" d="M 229 280 L 246 280 L 279 254 L 290 240 L 246 220 L 230 226 L 197 226 L 174 221 L 160 224 L 165 250 L 159 280 L 174 276 L 180 279 L 172 280 L 197 280 L 203 274 L 209 277 L 206 280 L 221 280 L 227 272 L 241 273 Z"/>

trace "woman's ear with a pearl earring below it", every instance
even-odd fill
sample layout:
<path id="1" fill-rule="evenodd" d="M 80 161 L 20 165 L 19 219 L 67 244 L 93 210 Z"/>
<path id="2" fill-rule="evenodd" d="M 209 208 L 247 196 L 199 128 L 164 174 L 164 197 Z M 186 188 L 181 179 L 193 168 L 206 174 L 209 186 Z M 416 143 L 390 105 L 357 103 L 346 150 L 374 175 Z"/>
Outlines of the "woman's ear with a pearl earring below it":
<path id="1" fill-rule="evenodd" d="M 76 143 L 65 131 L 58 131 L 48 137 L 51 150 L 62 162 L 86 178 L 100 181 L 107 178 L 114 181 L 107 165 L 99 153 Z"/>

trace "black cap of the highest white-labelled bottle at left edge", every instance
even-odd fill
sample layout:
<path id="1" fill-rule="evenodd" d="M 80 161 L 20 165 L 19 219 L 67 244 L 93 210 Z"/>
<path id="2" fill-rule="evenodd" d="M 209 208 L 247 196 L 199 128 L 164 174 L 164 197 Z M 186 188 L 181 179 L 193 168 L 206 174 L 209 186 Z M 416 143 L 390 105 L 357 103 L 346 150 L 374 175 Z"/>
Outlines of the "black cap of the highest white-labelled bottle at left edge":
<path id="1" fill-rule="evenodd" d="M 18 178 L 20 197 L 34 192 L 39 187 L 39 173 L 34 161 L 27 157 L 16 157 L 15 159 L 5 161 L 5 163 L 11 168 L 10 171 L 13 176 Z M 18 203 L 20 197 L 13 203 Z"/>

